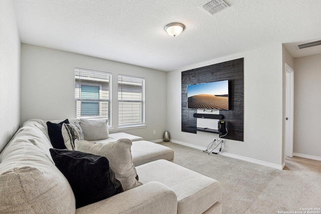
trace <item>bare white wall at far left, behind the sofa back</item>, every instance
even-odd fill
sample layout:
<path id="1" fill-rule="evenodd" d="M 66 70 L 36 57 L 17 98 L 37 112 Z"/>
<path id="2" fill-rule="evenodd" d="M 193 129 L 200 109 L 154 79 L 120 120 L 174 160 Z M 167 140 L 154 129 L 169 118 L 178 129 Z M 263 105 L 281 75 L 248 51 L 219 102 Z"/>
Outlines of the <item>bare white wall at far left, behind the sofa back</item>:
<path id="1" fill-rule="evenodd" d="M 20 38 L 11 0 L 0 1 L 0 151 L 19 128 Z"/>

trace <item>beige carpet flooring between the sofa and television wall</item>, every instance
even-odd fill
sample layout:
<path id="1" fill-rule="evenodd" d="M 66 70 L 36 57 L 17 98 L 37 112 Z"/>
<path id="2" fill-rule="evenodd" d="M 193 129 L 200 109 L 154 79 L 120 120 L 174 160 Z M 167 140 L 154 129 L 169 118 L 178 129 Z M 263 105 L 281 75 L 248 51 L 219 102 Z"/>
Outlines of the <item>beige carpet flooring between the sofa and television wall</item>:
<path id="1" fill-rule="evenodd" d="M 175 151 L 175 163 L 220 181 L 223 213 L 299 213 L 300 208 L 321 208 L 321 161 L 286 158 L 285 168 L 278 170 L 172 142 L 159 144 Z"/>

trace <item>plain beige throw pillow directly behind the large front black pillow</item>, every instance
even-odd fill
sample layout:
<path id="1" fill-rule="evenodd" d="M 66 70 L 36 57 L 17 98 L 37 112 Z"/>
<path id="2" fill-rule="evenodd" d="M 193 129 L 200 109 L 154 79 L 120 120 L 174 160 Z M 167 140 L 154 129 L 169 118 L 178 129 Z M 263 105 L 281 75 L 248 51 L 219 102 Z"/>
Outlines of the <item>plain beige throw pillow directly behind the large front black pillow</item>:
<path id="1" fill-rule="evenodd" d="M 141 185 L 134 164 L 131 162 L 131 141 L 119 139 L 110 143 L 94 143 L 85 140 L 75 140 L 77 151 L 101 155 L 109 160 L 110 168 L 121 182 L 124 191 Z"/>

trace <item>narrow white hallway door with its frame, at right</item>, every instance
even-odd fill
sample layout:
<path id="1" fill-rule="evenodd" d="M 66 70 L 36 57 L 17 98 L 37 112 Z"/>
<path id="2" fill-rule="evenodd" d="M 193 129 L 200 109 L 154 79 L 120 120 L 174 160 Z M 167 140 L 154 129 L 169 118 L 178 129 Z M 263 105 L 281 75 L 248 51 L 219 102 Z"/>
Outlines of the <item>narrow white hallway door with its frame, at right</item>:
<path id="1" fill-rule="evenodd" d="M 294 71 L 285 63 L 285 156 L 293 157 Z"/>

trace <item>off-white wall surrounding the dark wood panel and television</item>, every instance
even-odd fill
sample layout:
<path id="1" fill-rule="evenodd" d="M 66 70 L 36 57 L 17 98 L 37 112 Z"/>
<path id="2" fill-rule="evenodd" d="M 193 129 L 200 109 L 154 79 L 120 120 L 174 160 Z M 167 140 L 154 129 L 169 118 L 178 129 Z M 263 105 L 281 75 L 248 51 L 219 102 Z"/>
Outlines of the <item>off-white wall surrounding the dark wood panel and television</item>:
<path id="1" fill-rule="evenodd" d="M 225 153 L 281 168 L 282 165 L 282 48 L 270 45 L 178 71 L 169 72 L 167 127 L 173 142 L 206 148 L 217 134 L 181 131 L 181 72 L 244 58 L 244 142 L 227 140 Z"/>

